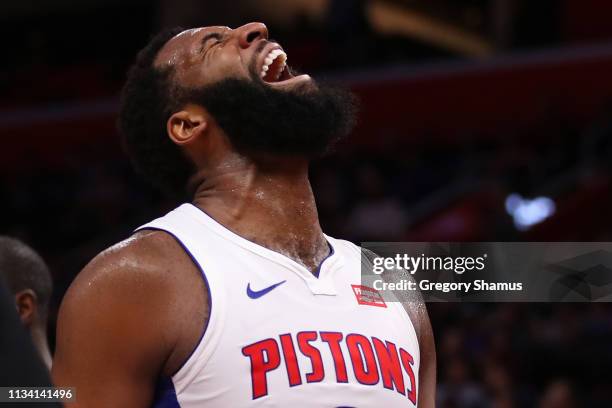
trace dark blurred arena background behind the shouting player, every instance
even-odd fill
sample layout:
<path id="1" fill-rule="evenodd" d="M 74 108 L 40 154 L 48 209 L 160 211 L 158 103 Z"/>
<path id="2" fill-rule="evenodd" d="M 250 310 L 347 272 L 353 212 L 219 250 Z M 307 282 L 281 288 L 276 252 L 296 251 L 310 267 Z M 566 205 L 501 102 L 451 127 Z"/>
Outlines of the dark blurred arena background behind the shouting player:
<path id="1" fill-rule="evenodd" d="M 0 232 L 51 266 L 52 346 L 78 271 L 174 205 L 133 173 L 115 130 L 127 66 L 165 26 L 264 21 L 290 64 L 361 96 L 352 138 L 312 167 L 330 235 L 612 241 L 609 1 L 9 0 L 0 11 Z M 612 406 L 610 305 L 429 312 L 440 407 Z"/>

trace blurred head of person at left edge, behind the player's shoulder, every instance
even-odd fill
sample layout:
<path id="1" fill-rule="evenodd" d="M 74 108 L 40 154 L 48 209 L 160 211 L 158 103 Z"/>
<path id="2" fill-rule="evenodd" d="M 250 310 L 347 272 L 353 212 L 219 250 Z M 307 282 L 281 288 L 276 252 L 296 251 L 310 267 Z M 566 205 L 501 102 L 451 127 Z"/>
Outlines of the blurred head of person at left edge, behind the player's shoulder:
<path id="1" fill-rule="evenodd" d="M 23 242 L 0 236 L 0 279 L 15 296 L 22 323 L 44 329 L 53 283 L 42 258 Z"/>

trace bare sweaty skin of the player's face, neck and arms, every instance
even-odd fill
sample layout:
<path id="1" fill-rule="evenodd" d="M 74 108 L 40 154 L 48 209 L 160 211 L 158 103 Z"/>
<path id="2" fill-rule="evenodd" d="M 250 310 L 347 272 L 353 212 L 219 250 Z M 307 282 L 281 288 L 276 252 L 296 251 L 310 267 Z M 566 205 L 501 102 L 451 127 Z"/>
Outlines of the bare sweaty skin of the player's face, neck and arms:
<path id="1" fill-rule="evenodd" d="M 160 50 L 184 86 L 228 76 L 250 79 L 269 50 L 261 23 L 186 30 Z M 308 75 L 270 83 L 290 90 Z M 167 123 L 168 137 L 197 167 L 193 203 L 220 224 L 310 270 L 329 254 L 308 180 L 308 160 L 238 154 L 214 118 L 187 105 Z M 209 316 L 199 270 L 166 233 L 145 231 L 102 252 L 78 275 L 62 303 L 53 379 L 76 387 L 69 407 L 147 407 L 160 375 L 175 373 L 197 345 Z M 407 310 L 421 348 L 420 407 L 433 407 L 435 351 L 422 302 Z M 177 319 L 178 317 L 182 317 Z"/>

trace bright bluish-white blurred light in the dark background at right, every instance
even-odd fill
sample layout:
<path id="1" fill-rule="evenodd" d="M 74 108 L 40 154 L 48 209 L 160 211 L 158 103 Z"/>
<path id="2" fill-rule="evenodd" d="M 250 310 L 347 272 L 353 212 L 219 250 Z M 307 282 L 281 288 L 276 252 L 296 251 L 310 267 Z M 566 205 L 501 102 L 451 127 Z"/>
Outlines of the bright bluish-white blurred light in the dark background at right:
<path id="1" fill-rule="evenodd" d="M 551 217 L 556 210 L 555 202 L 548 197 L 523 198 L 512 193 L 506 198 L 506 212 L 512 216 L 514 226 L 526 231 Z"/>

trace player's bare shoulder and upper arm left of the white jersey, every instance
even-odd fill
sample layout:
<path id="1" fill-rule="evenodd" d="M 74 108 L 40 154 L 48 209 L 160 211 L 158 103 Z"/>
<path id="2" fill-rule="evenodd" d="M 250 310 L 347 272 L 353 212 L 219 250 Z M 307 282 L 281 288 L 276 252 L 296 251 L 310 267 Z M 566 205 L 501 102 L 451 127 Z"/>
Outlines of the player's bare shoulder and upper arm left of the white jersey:
<path id="1" fill-rule="evenodd" d="M 194 303 L 205 296 L 202 286 L 163 232 L 140 232 L 103 251 L 62 301 L 55 383 L 77 387 L 83 406 L 147 406 L 156 379 L 177 369 L 203 326 L 206 310 Z"/>

